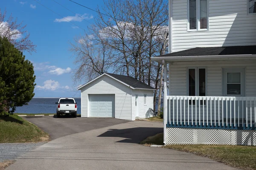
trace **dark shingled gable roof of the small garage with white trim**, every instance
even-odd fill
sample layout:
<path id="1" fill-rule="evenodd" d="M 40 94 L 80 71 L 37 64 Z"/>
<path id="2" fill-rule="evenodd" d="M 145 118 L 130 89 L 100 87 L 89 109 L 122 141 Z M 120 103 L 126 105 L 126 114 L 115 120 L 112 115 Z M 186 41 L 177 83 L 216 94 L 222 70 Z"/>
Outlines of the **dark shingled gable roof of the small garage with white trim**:
<path id="1" fill-rule="evenodd" d="M 137 79 L 134 79 L 133 77 L 123 76 L 123 75 L 119 75 L 119 74 L 111 74 L 111 73 L 104 73 L 104 74 L 96 77 L 95 79 L 91 80 L 90 82 L 87 82 L 84 85 L 81 85 L 80 87 L 77 88 L 77 90 L 80 90 L 84 86 L 90 84 L 91 82 L 95 81 L 96 79 L 99 79 L 100 77 L 102 77 L 104 75 L 111 77 L 112 79 L 115 79 L 116 81 L 121 82 L 122 84 L 124 84 L 132 89 L 156 90 L 156 89 L 152 88 L 151 86 L 149 86 Z"/>

